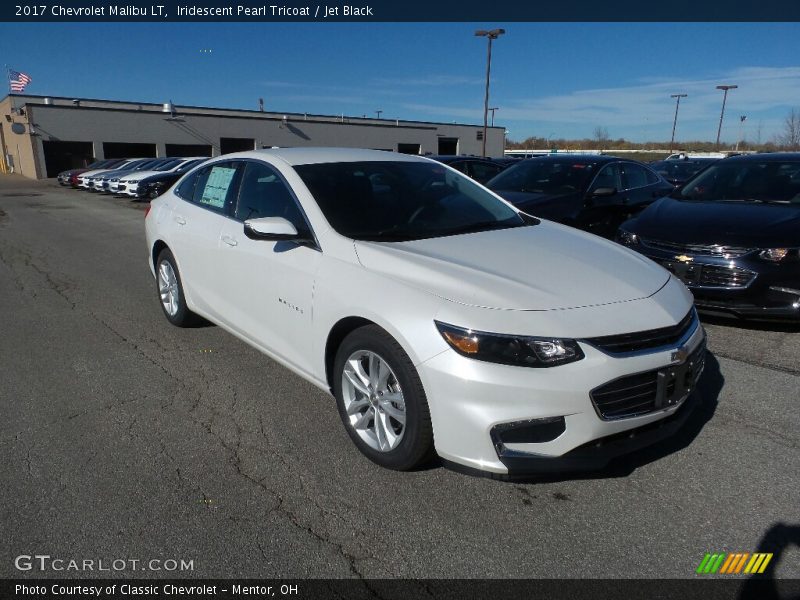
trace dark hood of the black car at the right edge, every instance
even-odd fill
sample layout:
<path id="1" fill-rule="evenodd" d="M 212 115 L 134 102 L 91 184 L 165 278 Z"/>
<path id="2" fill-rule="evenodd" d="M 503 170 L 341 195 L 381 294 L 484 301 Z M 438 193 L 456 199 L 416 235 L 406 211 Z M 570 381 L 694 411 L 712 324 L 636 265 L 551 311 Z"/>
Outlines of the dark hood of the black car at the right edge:
<path id="1" fill-rule="evenodd" d="M 800 245 L 800 204 L 662 198 L 633 222 L 643 238 L 744 247 Z"/>

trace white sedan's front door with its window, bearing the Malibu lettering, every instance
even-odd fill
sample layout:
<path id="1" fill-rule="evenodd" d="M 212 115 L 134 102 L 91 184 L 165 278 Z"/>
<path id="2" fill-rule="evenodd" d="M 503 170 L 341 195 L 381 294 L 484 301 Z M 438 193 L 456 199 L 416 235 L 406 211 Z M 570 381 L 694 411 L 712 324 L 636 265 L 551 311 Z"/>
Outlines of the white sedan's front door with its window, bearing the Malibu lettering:
<path id="1" fill-rule="evenodd" d="M 314 279 L 322 260 L 315 243 L 251 239 L 244 222 L 283 217 L 298 232 L 313 232 L 279 171 L 261 161 L 242 161 L 242 183 L 232 219 L 220 232 L 223 287 L 235 303 L 221 318 L 263 349 L 311 371 Z"/>

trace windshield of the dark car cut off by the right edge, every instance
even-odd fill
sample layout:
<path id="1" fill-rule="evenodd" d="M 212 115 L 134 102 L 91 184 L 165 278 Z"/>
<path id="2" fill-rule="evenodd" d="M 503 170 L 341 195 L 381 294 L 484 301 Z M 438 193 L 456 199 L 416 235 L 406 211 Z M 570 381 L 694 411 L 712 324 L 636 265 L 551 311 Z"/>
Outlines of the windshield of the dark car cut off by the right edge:
<path id="1" fill-rule="evenodd" d="M 800 202 L 800 161 L 720 161 L 673 197 L 682 200 Z"/>

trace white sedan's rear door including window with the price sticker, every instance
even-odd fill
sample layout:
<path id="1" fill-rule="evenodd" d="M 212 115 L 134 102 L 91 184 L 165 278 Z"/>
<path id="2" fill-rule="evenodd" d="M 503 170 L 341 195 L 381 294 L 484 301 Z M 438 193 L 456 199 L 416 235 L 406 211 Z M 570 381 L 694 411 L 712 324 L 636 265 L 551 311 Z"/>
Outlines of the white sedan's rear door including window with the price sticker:
<path id="1" fill-rule="evenodd" d="M 216 162 L 199 169 L 175 190 L 168 243 L 178 262 L 184 292 L 197 309 L 214 318 L 230 298 L 220 281 L 220 231 L 238 191 L 238 165 Z"/>

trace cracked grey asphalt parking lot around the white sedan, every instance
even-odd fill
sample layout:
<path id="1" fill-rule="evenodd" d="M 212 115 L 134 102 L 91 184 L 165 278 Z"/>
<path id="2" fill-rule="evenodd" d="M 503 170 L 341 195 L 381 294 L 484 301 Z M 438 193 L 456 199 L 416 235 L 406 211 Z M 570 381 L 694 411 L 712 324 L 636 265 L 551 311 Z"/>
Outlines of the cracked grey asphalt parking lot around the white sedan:
<path id="1" fill-rule="evenodd" d="M 333 401 L 164 319 L 143 206 L 0 176 L 0 577 L 19 555 L 175 559 L 161 577 L 800 577 L 800 328 L 706 322 L 679 438 L 599 474 L 498 482 L 363 458 Z M 97 575 L 97 574 L 95 574 Z"/>

